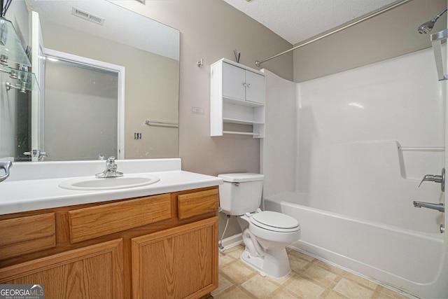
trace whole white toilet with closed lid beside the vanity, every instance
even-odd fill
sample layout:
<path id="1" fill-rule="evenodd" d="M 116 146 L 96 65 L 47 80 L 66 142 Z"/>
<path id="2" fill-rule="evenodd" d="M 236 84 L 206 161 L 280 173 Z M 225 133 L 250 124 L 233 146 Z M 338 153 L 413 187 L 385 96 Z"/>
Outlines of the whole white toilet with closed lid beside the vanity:
<path id="1" fill-rule="evenodd" d="M 238 216 L 246 245 L 241 260 L 269 277 L 290 272 L 286 246 L 300 239 L 297 220 L 275 211 L 261 211 L 262 174 L 219 174 L 219 202 L 225 214 Z"/>

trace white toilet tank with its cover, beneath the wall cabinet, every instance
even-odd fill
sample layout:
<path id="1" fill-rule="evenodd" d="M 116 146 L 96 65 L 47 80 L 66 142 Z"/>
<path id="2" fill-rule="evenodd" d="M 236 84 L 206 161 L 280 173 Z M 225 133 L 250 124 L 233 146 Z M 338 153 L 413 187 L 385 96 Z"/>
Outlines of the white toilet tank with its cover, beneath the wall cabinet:
<path id="1" fill-rule="evenodd" d="M 225 214 L 242 215 L 260 207 L 264 175 L 234 173 L 218 177 L 224 181 L 219 186 L 219 204 Z"/>

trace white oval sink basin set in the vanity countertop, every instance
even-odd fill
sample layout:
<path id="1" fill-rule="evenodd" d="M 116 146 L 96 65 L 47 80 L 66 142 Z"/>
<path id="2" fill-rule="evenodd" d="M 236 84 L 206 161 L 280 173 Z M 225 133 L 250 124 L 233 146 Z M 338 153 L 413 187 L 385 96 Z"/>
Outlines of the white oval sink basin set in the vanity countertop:
<path id="1" fill-rule="evenodd" d="M 152 183 L 157 183 L 160 179 L 151 174 L 128 174 L 116 178 L 97 179 L 94 176 L 83 176 L 68 179 L 59 183 L 59 187 L 69 190 L 112 190 L 121 188 L 135 188 Z"/>

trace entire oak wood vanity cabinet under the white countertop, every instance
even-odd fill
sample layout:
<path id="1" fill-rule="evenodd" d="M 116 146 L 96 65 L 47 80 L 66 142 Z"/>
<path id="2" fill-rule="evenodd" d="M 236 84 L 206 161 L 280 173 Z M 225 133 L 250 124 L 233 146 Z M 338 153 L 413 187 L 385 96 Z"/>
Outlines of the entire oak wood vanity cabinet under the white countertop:
<path id="1" fill-rule="evenodd" d="M 1 215 L 0 284 L 44 284 L 45 298 L 208 298 L 218 187 Z"/>

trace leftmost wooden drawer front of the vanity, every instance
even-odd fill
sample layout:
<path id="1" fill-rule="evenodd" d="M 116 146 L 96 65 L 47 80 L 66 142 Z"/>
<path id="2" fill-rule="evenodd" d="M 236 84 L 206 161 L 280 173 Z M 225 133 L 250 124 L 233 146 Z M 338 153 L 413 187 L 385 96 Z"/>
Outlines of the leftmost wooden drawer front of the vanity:
<path id="1" fill-rule="evenodd" d="M 0 221 L 0 259 L 55 246 L 55 213 Z"/>

